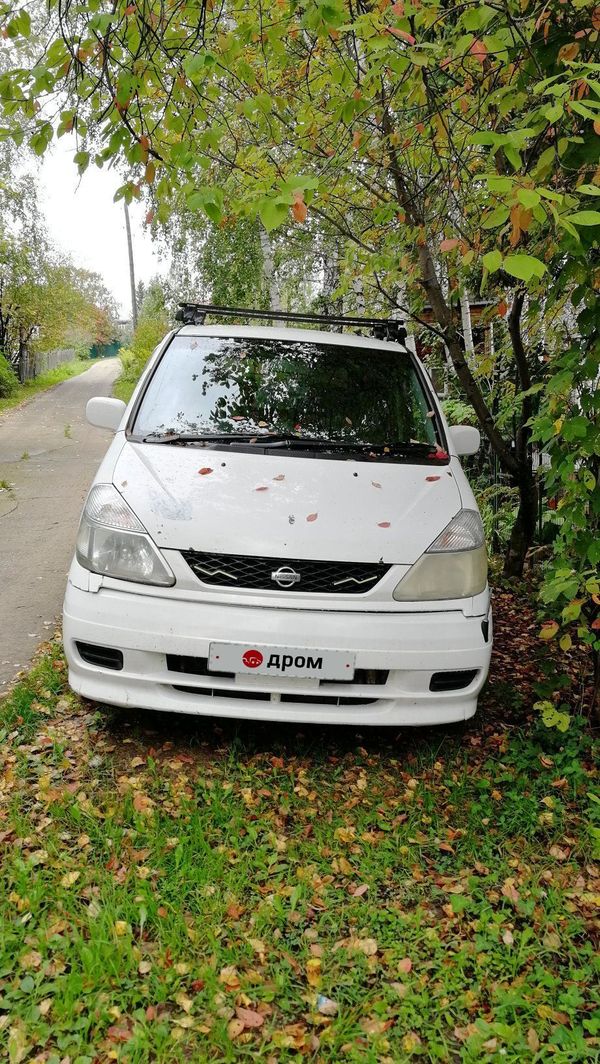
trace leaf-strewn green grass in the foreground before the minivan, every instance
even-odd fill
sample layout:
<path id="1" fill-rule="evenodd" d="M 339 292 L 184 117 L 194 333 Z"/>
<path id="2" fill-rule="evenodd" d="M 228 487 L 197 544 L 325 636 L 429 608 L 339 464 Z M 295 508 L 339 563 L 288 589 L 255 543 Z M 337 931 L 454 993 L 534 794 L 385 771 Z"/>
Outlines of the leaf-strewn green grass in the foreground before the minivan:
<path id="1" fill-rule="evenodd" d="M 48 648 L 0 704 L 0 1059 L 600 1059 L 591 738 L 497 618 L 478 718 L 400 733 L 105 718 Z"/>

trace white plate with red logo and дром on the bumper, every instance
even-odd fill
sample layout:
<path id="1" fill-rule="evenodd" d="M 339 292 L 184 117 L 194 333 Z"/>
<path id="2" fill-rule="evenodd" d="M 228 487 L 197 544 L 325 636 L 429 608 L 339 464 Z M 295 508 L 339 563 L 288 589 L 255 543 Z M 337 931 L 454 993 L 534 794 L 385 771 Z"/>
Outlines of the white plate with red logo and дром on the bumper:
<path id="1" fill-rule="evenodd" d="M 211 643 L 209 669 L 238 676 L 298 676 L 306 679 L 352 680 L 354 654 L 346 650 L 300 650 L 257 647 L 251 643 Z"/>

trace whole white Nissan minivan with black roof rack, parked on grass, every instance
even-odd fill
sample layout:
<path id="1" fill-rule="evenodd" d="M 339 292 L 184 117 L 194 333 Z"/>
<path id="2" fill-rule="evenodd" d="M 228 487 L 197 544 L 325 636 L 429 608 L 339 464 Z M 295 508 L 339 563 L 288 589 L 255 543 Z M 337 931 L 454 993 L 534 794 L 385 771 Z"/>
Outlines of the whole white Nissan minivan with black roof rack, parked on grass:
<path id="1" fill-rule="evenodd" d="M 459 455 L 479 433 L 448 428 L 404 330 L 180 314 L 127 408 L 87 405 L 116 431 L 69 571 L 71 687 L 257 720 L 472 716 L 491 611 Z M 373 335 L 331 330 L 356 323 Z"/>

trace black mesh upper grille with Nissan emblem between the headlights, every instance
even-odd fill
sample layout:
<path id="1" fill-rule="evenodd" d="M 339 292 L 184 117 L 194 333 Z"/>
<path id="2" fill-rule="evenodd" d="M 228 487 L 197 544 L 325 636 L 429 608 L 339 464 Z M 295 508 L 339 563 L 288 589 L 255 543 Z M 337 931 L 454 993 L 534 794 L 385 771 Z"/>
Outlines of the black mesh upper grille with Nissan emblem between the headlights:
<path id="1" fill-rule="evenodd" d="M 247 554 L 210 554 L 196 550 L 184 550 L 182 554 L 203 584 L 249 591 L 364 595 L 389 569 L 389 565 L 379 562 L 313 562 Z M 279 569 L 285 572 L 278 582 L 272 579 L 272 573 Z"/>

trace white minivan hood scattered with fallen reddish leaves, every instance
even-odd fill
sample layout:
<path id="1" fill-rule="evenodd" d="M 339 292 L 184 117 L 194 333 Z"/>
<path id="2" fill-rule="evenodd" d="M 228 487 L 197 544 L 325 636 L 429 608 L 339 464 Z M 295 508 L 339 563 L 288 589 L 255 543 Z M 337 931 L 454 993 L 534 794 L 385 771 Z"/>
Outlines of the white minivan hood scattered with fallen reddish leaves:
<path id="1" fill-rule="evenodd" d="M 461 509 L 453 466 L 126 443 L 113 480 L 163 548 L 409 565 Z"/>

